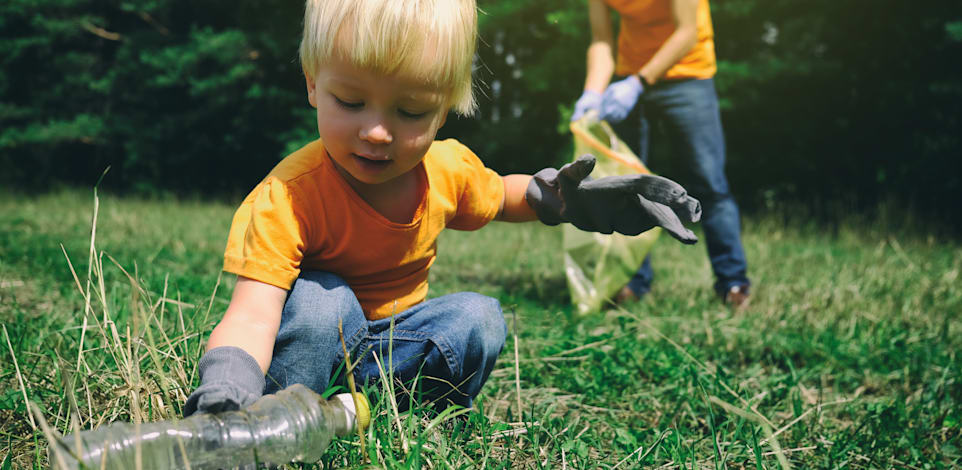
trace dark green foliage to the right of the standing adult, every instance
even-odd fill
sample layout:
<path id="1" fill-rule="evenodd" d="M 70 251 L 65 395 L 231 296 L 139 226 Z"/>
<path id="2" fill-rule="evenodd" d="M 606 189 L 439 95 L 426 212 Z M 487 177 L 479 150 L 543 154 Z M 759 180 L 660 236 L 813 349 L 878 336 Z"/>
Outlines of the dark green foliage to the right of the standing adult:
<path id="1" fill-rule="evenodd" d="M 922 209 L 962 195 L 958 2 L 740 0 L 713 13 L 736 190 Z"/>

